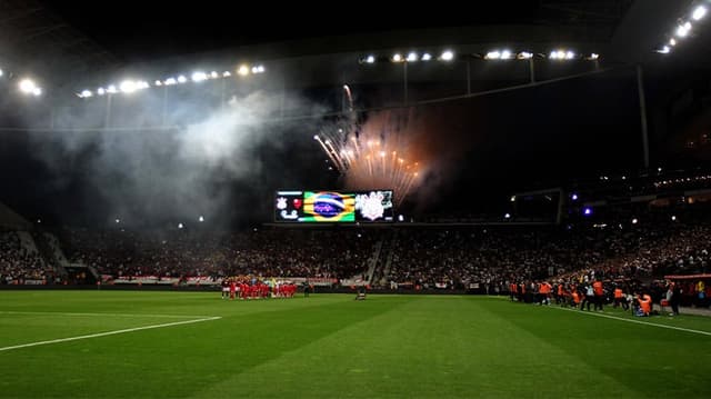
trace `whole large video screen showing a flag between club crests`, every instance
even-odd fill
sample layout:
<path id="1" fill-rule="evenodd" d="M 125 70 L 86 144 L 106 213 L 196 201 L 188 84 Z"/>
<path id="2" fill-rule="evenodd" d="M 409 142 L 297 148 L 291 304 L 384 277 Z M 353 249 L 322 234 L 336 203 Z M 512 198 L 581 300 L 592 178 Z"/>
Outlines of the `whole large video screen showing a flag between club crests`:
<path id="1" fill-rule="evenodd" d="M 392 190 L 277 191 L 274 221 L 391 222 Z"/>

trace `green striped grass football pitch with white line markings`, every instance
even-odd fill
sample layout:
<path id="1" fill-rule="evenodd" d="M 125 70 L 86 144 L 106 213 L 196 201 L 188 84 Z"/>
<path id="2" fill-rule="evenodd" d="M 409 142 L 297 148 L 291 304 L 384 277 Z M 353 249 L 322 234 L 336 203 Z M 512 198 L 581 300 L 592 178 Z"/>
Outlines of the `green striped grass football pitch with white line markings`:
<path id="1" fill-rule="evenodd" d="M 710 398 L 710 335 L 501 298 L 0 291 L 0 397 Z"/>

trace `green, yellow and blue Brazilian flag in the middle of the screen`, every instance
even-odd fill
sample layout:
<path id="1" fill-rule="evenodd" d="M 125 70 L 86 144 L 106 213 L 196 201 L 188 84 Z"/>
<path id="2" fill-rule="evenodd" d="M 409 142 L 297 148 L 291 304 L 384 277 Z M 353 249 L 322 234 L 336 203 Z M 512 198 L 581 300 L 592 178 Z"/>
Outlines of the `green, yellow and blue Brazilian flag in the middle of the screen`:
<path id="1" fill-rule="evenodd" d="M 333 191 L 304 191 L 303 217 L 307 222 L 356 221 L 356 194 Z"/>

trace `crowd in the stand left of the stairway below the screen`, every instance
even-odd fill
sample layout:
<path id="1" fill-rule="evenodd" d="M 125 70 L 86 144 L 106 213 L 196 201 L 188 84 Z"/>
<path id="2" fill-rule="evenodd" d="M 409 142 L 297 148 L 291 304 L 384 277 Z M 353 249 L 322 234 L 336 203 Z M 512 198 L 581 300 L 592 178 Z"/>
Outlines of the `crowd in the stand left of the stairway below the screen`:
<path id="1" fill-rule="evenodd" d="M 70 261 L 119 277 L 351 278 L 365 273 L 377 236 L 356 230 L 254 229 L 218 233 L 64 230 Z"/>

